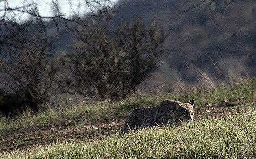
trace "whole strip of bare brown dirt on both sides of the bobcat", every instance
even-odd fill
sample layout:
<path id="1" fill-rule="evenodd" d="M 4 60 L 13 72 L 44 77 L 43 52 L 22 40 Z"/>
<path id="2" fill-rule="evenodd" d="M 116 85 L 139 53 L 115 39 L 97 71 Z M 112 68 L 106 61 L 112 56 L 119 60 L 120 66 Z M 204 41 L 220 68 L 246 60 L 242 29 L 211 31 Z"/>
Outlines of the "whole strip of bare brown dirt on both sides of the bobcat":
<path id="1" fill-rule="evenodd" d="M 240 110 L 248 111 L 256 108 L 255 99 L 250 102 L 237 100 L 236 102 L 235 104 L 226 104 L 227 101 L 221 101 L 218 106 L 212 106 L 212 104 L 208 103 L 203 108 L 195 107 L 195 120 L 200 117 L 211 118 L 233 115 L 236 112 L 240 112 Z M 87 125 L 78 124 L 19 133 L 11 132 L 0 136 L 0 152 L 26 149 L 35 145 L 47 145 L 56 141 L 88 141 L 89 139 L 110 137 L 117 134 L 126 118 L 127 116 L 96 121 Z"/>

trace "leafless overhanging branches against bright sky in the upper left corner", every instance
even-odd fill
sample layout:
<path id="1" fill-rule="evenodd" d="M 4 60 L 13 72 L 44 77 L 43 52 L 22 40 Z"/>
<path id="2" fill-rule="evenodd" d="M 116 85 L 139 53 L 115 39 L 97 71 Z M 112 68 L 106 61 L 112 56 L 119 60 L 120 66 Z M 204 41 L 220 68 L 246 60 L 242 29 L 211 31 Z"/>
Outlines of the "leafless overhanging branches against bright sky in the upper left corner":
<path id="1" fill-rule="evenodd" d="M 36 22 L 39 28 L 44 30 L 45 37 L 47 37 L 47 26 L 45 26 L 45 20 L 52 20 L 57 33 L 62 35 L 66 29 L 71 29 L 70 24 L 72 23 L 83 25 L 83 19 L 86 15 L 85 10 L 90 12 L 101 11 L 102 8 L 105 9 L 108 6 L 113 5 L 110 0 L 81 0 L 78 1 L 79 3 L 75 7 L 75 4 L 72 4 L 72 1 L 66 0 L 66 2 L 70 5 L 70 17 L 67 17 L 67 15 L 62 13 L 60 9 L 61 6 L 55 0 L 52 0 L 50 3 L 52 8 L 55 10 L 55 14 L 50 16 L 42 15 L 38 9 L 39 5 L 34 2 L 29 4 L 25 3 L 23 6 L 12 7 L 10 6 L 9 0 L 0 0 L 0 3 L 3 4 L 3 7 L 0 9 L 0 12 L 2 13 L 0 16 L 0 48 L 3 49 L 5 48 L 4 46 L 21 47 L 22 41 L 19 40 L 19 35 L 22 30 L 27 27 L 26 24 L 30 24 L 31 22 Z M 83 15 L 80 11 L 81 9 L 84 11 Z M 73 14 L 72 17 L 71 14 Z M 29 15 L 33 19 L 20 19 L 23 15 Z M 10 42 L 12 39 L 18 41 L 19 46 Z"/>

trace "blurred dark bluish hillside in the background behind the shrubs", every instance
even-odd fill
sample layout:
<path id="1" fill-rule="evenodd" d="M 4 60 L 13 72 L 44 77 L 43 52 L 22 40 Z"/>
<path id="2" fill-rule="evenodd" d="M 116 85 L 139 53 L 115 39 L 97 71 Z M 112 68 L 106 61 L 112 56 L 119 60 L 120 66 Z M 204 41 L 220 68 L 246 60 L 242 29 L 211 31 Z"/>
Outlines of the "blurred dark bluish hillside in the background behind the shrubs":
<path id="1" fill-rule="evenodd" d="M 120 0 L 117 3 L 116 20 L 139 18 L 146 24 L 156 20 L 166 33 L 170 32 L 159 69 L 147 81 L 149 85 L 195 82 L 205 78 L 202 72 L 210 80 L 223 79 L 230 84 L 234 79 L 256 75 L 256 3 L 228 4 L 222 19 L 220 11 L 215 10 L 216 24 L 203 5 L 187 11 L 197 3 L 178 0 Z M 58 53 L 68 50 L 71 36 L 66 32 L 57 41 Z"/>

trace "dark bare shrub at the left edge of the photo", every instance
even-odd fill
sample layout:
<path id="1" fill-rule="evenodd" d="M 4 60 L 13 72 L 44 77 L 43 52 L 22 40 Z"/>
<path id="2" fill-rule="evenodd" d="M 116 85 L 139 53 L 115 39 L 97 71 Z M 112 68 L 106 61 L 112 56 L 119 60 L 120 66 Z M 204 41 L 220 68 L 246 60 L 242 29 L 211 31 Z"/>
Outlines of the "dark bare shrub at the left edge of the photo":
<path id="1" fill-rule="evenodd" d="M 53 41 L 43 31 L 30 26 L 20 35 L 11 40 L 16 46 L 0 56 L 2 99 L 14 115 L 27 108 L 37 113 L 55 93 L 58 71 L 52 59 Z"/>

